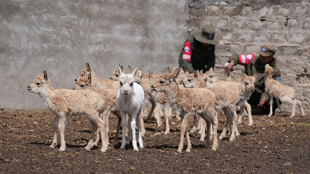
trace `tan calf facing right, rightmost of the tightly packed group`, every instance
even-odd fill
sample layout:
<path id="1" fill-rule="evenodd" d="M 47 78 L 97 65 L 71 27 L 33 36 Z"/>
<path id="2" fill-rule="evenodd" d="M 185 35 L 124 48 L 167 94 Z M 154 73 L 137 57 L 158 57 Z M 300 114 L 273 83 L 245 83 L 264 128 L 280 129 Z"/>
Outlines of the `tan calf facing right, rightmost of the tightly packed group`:
<path id="1" fill-rule="evenodd" d="M 237 82 L 219 82 L 219 83 L 211 84 L 210 87 L 227 87 L 227 88 L 231 88 L 231 89 L 235 90 L 238 94 L 237 105 L 243 106 L 244 102 L 248 101 L 251 94 L 254 92 L 254 89 L 255 89 L 254 85 L 256 82 L 255 77 L 256 77 L 257 73 L 254 76 L 247 76 L 242 71 L 242 74 L 243 74 L 242 84 L 239 84 Z M 228 128 L 226 126 L 230 127 L 230 124 L 231 124 L 231 122 L 229 124 L 226 124 L 227 121 L 229 121 L 229 120 L 225 121 L 225 128 L 224 128 L 225 130 L 227 130 L 227 128 Z M 223 130 L 221 136 L 219 137 L 219 140 L 222 140 L 225 137 L 226 131 L 224 134 L 223 133 L 224 133 L 224 130 Z M 239 135 L 240 134 L 239 134 L 238 129 L 236 127 L 236 136 L 239 136 Z"/>

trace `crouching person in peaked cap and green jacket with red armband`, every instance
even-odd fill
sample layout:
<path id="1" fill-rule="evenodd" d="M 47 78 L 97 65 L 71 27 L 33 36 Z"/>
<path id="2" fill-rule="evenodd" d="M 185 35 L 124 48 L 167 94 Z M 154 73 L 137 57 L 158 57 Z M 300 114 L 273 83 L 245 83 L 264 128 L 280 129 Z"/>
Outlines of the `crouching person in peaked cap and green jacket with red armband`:
<path id="1" fill-rule="evenodd" d="M 251 95 L 248 103 L 250 105 L 257 105 L 260 108 L 262 114 L 268 114 L 269 107 L 269 95 L 265 92 L 264 77 L 265 77 L 265 65 L 268 63 L 275 72 L 272 73 L 274 80 L 280 81 L 281 71 L 276 66 L 276 59 L 273 57 L 276 49 L 270 45 L 263 45 L 257 53 L 259 56 L 254 54 L 238 55 L 232 54 L 228 59 L 229 64 L 225 67 L 227 74 L 232 70 L 232 67 L 236 64 L 241 64 L 245 66 L 245 73 L 248 76 L 253 76 L 258 72 L 256 76 L 255 91 Z M 276 103 L 276 102 L 273 102 Z M 275 105 L 272 108 L 274 110 L 278 106 Z"/>

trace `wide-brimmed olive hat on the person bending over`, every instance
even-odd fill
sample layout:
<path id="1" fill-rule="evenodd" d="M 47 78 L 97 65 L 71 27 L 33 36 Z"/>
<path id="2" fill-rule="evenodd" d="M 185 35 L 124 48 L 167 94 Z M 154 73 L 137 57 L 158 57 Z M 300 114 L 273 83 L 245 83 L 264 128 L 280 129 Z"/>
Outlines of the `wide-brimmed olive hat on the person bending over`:
<path id="1" fill-rule="evenodd" d="M 219 43 L 219 38 L 215 36 L 215 29 L 211 25 L 204 25 L 202 29 L 196 30 L 194 37 L 197 41 L 216 45 Z"/>

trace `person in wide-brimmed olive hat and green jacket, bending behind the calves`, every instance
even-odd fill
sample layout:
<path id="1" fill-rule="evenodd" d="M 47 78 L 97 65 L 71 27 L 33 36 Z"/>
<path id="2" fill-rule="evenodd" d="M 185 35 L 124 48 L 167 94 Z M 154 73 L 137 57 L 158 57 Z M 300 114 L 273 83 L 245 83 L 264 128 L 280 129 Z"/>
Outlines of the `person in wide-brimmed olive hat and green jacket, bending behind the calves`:
<path id="1" fill-rule="evenodd" d="M 179 68 L 183 67 L 192 74 L 194 70 L 207 72 L 215 64 L 215 45 L 219 38 L 215 36 L 215 29 L 205 25 L 201 30 L 189 35 L 184 42 L 179 56 Z"/>

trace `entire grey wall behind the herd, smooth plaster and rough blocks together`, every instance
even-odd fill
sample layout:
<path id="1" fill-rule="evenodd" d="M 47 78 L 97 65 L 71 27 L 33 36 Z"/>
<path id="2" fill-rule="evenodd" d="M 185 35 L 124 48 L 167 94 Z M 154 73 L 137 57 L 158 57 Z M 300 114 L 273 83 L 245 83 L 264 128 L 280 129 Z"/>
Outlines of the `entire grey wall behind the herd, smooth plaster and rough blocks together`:
<path id="1" fill-rule="evenodd" d="M 205 24 L 216 28 L 216 64 L 233 53 L 277 49 L 281 83 L 310 107 L 309 1 L 1 1 L 0 107 L 44 108 L 27 85 L 46 70 L 55 89 L 72 89 L 85 63 L 101 79 L 118 64 L 144 72 L 178 67 L 186 37 Z M 237 65 L 231 75 L 241 77 Z M 281 109 L 291 111 L 291 105 Z M 297 113 L 299 109 L 296 109 Z"/>

